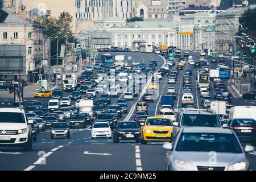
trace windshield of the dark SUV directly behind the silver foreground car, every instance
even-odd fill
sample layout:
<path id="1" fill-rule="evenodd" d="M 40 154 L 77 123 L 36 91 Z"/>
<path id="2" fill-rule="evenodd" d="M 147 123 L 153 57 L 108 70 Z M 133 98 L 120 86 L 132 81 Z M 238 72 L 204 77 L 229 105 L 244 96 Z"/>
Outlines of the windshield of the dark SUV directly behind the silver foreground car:
<path id="1" fill-rule="evenodd" d="M 218 116 L 209 114 L 184 114 L 181 123 L 183 126 L 220 127 Z"/>

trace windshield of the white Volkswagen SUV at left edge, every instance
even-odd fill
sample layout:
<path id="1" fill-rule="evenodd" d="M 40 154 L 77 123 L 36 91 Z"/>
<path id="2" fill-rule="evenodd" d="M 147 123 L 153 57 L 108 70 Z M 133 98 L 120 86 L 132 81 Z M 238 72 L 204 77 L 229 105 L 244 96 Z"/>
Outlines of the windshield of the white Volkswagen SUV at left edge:
<path id="1" fill-rule="evenodd" d="M 0 123 L 25 123 L 23 113 L 0 112 Z"/>

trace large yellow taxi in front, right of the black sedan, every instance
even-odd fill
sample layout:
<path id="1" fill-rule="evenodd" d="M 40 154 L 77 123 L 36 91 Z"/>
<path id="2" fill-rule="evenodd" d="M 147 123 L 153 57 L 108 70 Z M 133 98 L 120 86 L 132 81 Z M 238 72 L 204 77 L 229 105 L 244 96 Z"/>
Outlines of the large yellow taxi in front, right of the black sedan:
<path id="1" fill-rule="evenodd" d="M 172 121 L 170 118 L 157 115 L 147 117 L 145 123 L 141 123 L 141 144 L 147 142 L 170 142 L 172 135 Z"/>

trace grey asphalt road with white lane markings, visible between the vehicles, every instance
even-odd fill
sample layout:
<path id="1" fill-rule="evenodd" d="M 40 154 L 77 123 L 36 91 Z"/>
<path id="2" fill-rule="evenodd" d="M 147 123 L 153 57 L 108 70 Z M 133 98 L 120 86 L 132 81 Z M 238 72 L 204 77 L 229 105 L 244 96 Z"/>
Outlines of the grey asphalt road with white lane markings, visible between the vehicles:
<path id="1" fill-rule="evenodd" d="M 129 65 L 133 64 L 134 60 L 146 65 L 150 64 L 152 60 L 155 60 L 158 65 L 155 67 L 155 71 L 158 71 L 164 64 L 166 59 L 163 56 L 155 54 L 145 53 L 123 53 L 113 52 L 114 55 L 125 55 L 125 60 Z M 199 60 L 200 53 L 191 53 L 194 60 Z M 128 59 L 129 56 L 129 59 Z M 98 56 L 101 57 L 101 54 Z M 187 57 L 185 57 L 187 61 Z M 175 66 L 171 67 L 171 70 L 176 68 L 179 60 L 174 58 Z M 210 63 L 210 61 L 209 61 Z M 215 68 L 218 63 L 210 63 L 209 68 Z M 225 59 L 226 65 L 231 65 L 229 59 Z M 160 114 L 160 102 L 161 96 L 167 94 L 169 86 L 173 86 L 176 90 L 176 100 L 174 100 L 174 107 L 181 107 L 181 97 L 183 95 L 183 82 L 182 77 L 185 69 L 192 69 L 192 95 L 195 98 L 194 106 L 202 109 L 201 98 L 199 90 L 196 88 L 196 73 L 199 68 L 195 68 L 193 65 L 185 64 L 183 70 L 179 71 L 177 75 L 176 84 L 168 84 L 168 76 L 164 75 L 162 80 L 159 80 L 158 90 L 159 95 L 154 102 L 148 102 L 148 115 L 155 116 Z M 97 70 L 94 69 L 94 75 L 97 74 Z M 224 84 L 228 88 L 228 91 L 232 93 L 232 105 L 253 105 L 252 101 L 245 101 L 231 87 L 231 80 L 224 80 Z M 127 113 L 123 113 L 119 121 L 122 120 L 134 120 L 136 110 L 135 104 L 137 101 L 142 101 L 143 88 L 140 88 L 140 92 L 134 100 L 127 101 Z M 145 90 L 144 90 L 145 91 Z M 210 81 L 209 88 L 210 96 L 213 97 L 214 88 L 213 81 Z M 71 93 L 64 92 L 63 97 L 68 97 Z M 100 98 L 100 93 L 97 93 L 94 100 Z M 118 99 L 122 99 L 123 94 L 119 94 L 119 97 L 112 97 L 111 103 L 114 104 Z M 0 98 L 0 102 L 4 100 L 11 100 L 12 98 Z M 29 106 L 34 101 L 42 101 L 44 106 L 48 105 L 50 98 L 26 98 L 24 102 L 25 106 Z M 72 101 L 72 105 L 75 101 Z M 68 121 L 68 119 L 67 119 Z M 148 142 L 148 144 L 141 144 L 135 142 L 120 142 L 113 143 L 112 139 L 92 139 L 91 128 L 87 125 L 84 128 L 75 128 L 70 131 L 71 138 L 50 138 L 50 131 L 42 131 L 37 136 L 37 141 L 32 142 L 31 151 L 23 151 L 19 148 L 0 148 L 0 160 L 1 170 L 165 170 L 166 151 L 163 150 L 163 142 Z M 247 154 L 247 158 L 250 161 L 250 168 L 256 170 L 256 152 L 250 152 Z"/>

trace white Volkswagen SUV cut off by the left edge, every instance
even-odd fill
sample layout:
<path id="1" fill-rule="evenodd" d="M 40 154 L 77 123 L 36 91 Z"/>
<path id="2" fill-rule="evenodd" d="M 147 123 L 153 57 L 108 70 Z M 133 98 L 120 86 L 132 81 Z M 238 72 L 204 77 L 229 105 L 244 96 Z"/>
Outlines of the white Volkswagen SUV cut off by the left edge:
<path id="1" fill-rule="evenodd" d="M 22 147 L 32 149 L 32 120 L 28 120 L 23 109 L 0 109 L 0 147 Z"/>

